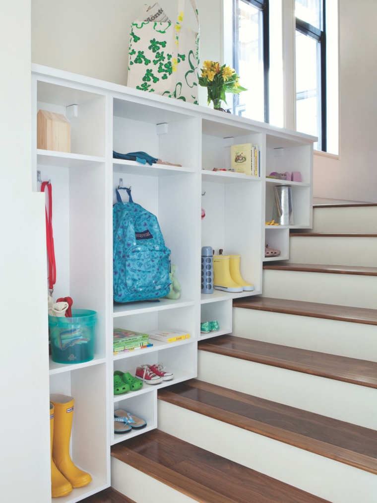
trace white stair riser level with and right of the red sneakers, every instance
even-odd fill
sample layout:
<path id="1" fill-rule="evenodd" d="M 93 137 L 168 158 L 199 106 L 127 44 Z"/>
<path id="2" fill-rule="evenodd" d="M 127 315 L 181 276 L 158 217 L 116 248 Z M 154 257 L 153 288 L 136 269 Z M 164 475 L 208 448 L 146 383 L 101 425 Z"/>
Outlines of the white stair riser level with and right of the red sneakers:
<path id="1" fill-rule="evenodd" d="M 377 430 L 377 390 L 199 351 L 198 379 Z"/>

